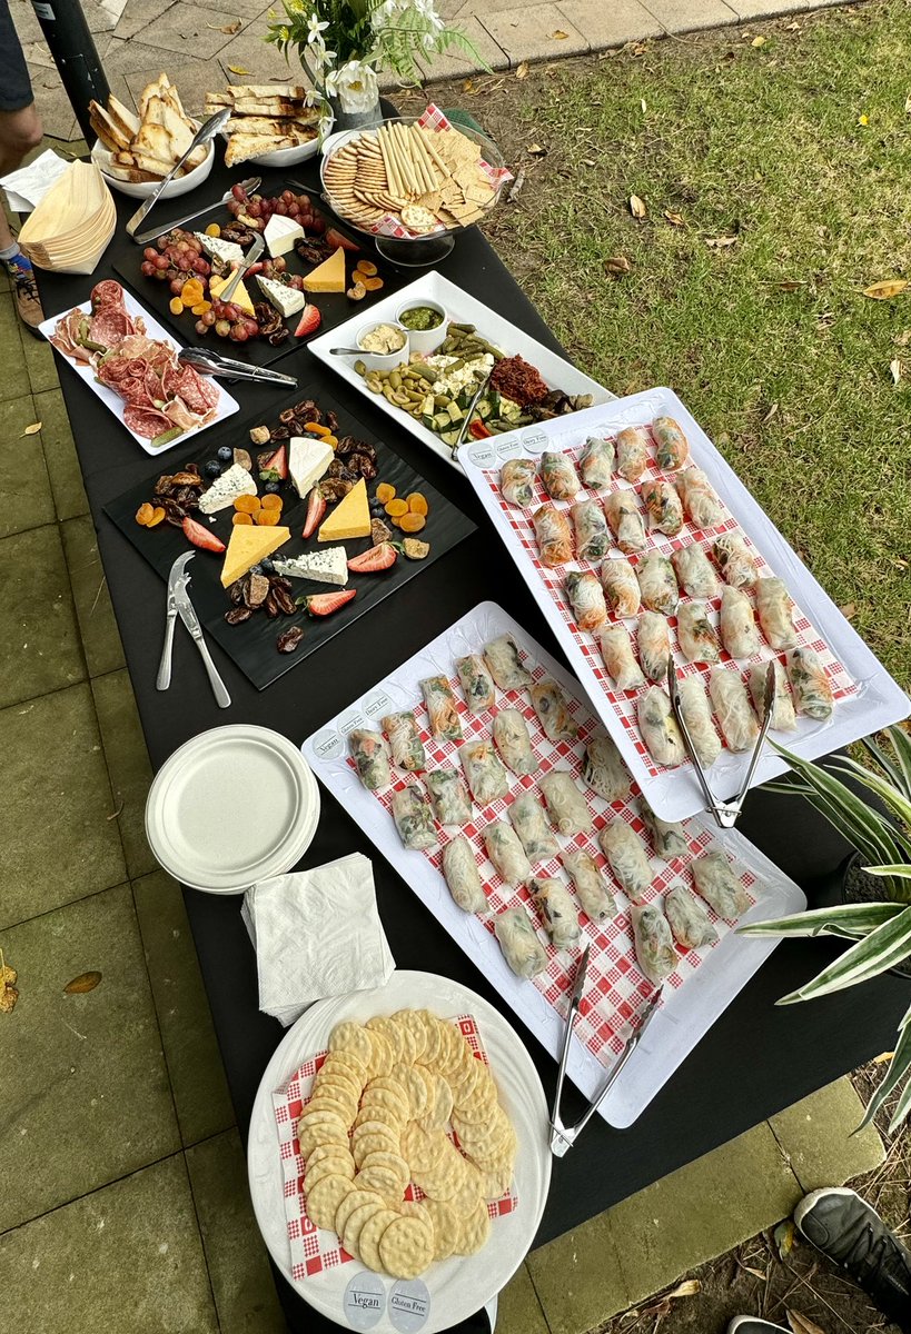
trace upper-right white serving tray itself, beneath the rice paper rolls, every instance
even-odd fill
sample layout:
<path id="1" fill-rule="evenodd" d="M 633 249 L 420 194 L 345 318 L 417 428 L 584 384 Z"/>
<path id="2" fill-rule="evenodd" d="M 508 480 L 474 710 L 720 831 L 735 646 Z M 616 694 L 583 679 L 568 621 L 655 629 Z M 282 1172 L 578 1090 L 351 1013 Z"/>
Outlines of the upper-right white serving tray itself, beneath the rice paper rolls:
<path id="1" fill-rule="evenodd" d="M 727 527 L 740 528 L 745 534 L 760 566 L 764 566 L 763 574 L 776 574 L 784 579 L 791 596 L 803 614 L 796 616 L 799 640 L 801 644 L 816 647 L 834 686 L 836 703 L 830 719 L 815 722 L 811 718 L 799 716 L 796 731 L 772 732 L 771 739 L 777 740 L 787 750 L 793 750 L 804 759 L 816 759 L 906 718 L 911 711 L 911 700 L 892 680 L 831 598 L 820 588 L 803 560 L 788 546 L 736 472 L 725 463 L 705 432 L 671 390 L 647 390 L 625 399 L 616 399 L 602 407 L 586 408 L 569 418 L 557 418 L 541 426 L 512 431 L 509 435 L 492 440 L 464 444 L 458 455 L 465 474 L 560 640 L 576 675 L 588 692 L 592 707 L 617 743 L 652 808 L 664 819 L 677 820 L 701 811 L 705 806 L 696 771 L 689 760 L 679 768 L 671 770 L 655 763 L 641 742 L 636 722 L 636 703 L 641 690 L 636 692 L 614 691 L 601 662 L 594 635 L 576 627 L 572 608 L 562 595 L 562 583 L 566 571 L 584 567 L 572 560 L 557 570 L 548 570 L 538 560 L 530 515 L 538 504 L 548 500 L 544 488 L 537 483 L 536 499 L 525 510 L 517 510 L 502 500 L 498 490 L 500 467 L 504 459 L 536 456 L 544 450 L 574 451 L 590 435 L 613 436 L 624 427 L 645 426 L 659 415 L 672 416 L 683 427 L 689 440 L 692 462 L 705 471 L 731 515 Z M 673 478 L 675 475 L 661 474 L 657 467 L 649 466 L 644 476 Z M 610 490 L 616 488 L 629 490 L 629 483 L 614 475 Z M 601 492 L 601 495 L 606 494 L 606 491 Z M 580 491 L 577 499 L 589 495 L 594 495 L 594 492 Z M 548 503 L 564 508 L 573 502 L 548 500 Z M 724 531 L 724 526 L 701 532 L 687 523 L 683 534 L 675 539 L 665 538 L 660 532 L 649 534 L 647 550 L 660 550 L 669 555 L 673 547 L 689 542 L 709 547 L 713 538 L 721 531 Z M 719 598 L 711 602 L 711 607 L 715 608 L 712 619 L 717 624 Z M 671 618 L 671 622 L 672 626 L 676 626 L 675 618 Z M 632 634 L 634 619 L 626 626 Z M 672 639 L 676 647 L 676 631 L 673 630 Z M 744 668 L 753 662 L 768 660 L 773 656 L 784 659 L 783 654 L 776 655 L 772 648 L 763 643 L 759 655 L 748 662 L 740 662 L 737 666 L 743 674 Z M 676 652 L 675 658 L 679 670 L 684 670 L 687 674 L 697 672 L 708 683 L 711 667 L 687 664 L 680 652 Z M 729 662 L 727 654 L 723 655 L 723 662 Z M 728 799 L 740 791 L 749 758 L 749 751 L 745 754 L 733 754 L 727 748 L 721 751 L 709 770 L 709 783 L 716 798 Z M 767 746 L 751 786 L 757 787 L 760 783 L 768 782 L 768 779 L 783 774 L 787 767 L 787 763 L 771 746 Z"/>

